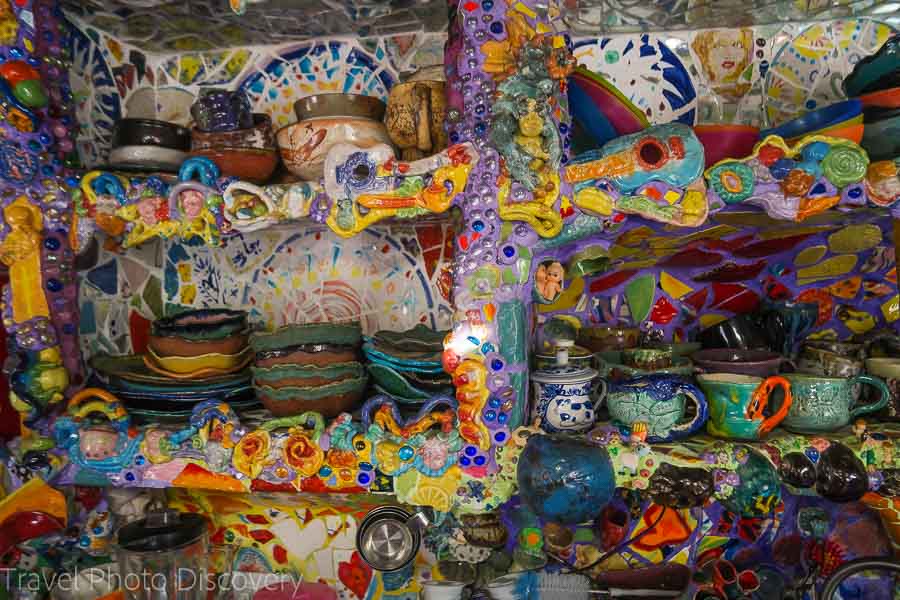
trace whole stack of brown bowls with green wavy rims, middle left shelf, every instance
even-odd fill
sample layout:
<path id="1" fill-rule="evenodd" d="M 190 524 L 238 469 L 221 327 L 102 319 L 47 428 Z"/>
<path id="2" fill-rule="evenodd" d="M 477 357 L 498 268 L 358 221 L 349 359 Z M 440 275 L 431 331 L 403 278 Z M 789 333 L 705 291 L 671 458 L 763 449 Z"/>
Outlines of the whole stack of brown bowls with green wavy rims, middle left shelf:
<path id="1" fill-rule="evenodd" d="M 250 340 L 256 395 L 277 417 L 352 412 L 366 387 L 358 323 L 287 325 Z"/>

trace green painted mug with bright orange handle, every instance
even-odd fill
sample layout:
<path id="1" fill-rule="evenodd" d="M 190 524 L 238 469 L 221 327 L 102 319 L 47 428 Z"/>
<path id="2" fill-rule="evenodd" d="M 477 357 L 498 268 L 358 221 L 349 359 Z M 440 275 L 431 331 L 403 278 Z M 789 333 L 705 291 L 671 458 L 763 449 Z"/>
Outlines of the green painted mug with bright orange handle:
<path id="1" fill-rule="evenodd" d="M 781 423 L 791 407 L 791 384 L 774 375 L 763 379 L 734 373 L 699 375 L 697 382 L 706 393 L 709 420 L 706 431 L 722 438 L 759 440 Z M 770 416 L 763 414 L 775 388 L 784 390 L 784 400 Z"/>

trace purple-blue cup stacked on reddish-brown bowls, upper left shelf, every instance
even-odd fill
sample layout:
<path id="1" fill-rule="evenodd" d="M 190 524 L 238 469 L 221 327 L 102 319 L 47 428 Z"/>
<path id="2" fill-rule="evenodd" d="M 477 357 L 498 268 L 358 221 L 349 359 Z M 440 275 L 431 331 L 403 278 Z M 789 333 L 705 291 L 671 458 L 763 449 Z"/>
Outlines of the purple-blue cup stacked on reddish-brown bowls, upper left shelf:
<path id="1" fill-rule="evenodd" d="M 242 91 L 206 90 L 191 107 L 191 156 L 203 156 L 222 175 L 265 183 L 278 166 L 272 120 L 251 113 Z"/>

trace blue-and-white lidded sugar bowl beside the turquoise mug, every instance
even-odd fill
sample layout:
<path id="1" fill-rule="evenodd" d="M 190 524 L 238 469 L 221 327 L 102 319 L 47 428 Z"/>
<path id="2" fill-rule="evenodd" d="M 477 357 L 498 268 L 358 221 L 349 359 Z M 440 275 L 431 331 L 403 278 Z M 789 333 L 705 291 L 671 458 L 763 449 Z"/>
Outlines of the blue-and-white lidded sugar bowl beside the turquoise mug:
<path id="1" fill-rule="evenodd" d="M 586 431 L 594 424 L 594 412 L 606 396 L 606 382 L 597 371 L 569 362 L 573 342 L 560 341 L 556 364 L 531 375 L 534 387 L 532 420 L 540 420 L 548 433 Z"/>

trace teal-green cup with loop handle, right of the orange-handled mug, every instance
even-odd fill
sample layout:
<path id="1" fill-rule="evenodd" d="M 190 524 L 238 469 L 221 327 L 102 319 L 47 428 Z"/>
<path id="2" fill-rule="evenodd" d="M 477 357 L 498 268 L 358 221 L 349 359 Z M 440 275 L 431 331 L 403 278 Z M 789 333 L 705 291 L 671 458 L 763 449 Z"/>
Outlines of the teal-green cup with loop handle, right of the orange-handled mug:
<path id="1" fill-rule="evenodd" d="M 836 431 L 860 415 L 881 410 L 891 397 L 884 381 L 871 375 L 845 378 L 790 373 L 784 377 L 791 382 L 794 395 L 784 426 L 800 433 Z M 860 384 L 876 388 L 878 400 L 859 404 L 856 399 L 860 397 Z"/>

